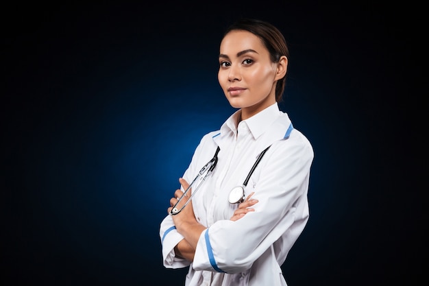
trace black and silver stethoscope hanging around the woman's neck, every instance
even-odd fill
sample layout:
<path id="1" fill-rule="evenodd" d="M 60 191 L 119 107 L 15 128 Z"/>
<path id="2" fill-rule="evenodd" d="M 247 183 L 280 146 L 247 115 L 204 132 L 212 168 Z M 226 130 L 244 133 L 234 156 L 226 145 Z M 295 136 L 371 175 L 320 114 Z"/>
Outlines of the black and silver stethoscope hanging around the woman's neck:
<path id="1" fill-rule="evenodd" d="M 292 130 L 293 130 L 293 126 L 291 123 L 288 130 L 286 131 L 286 134 L 284 135 L 284 139 L 289 138 L 289 135 L 291 134 Z M 262 159 L 262 156 L 264 156 L 265 153 L 269 150 L 269 147 L 271 147 L 271 145 L 269 145 L 267 148 L 265 148 L 264 151 L 260 152 L 258 158 L 256 158 L 256 161 L 255 161 L 254 165 L 252 166 L 252 169 L 250 169 L 249 174 L 247 174 L 247 177 L 244 180 L 243 184 L 241 186 L 236 186 L 236 187 L 232 188 L 232 190 L 230 191 L 230 195 L 228 195 L 228 202 L 230 202 L 230 204 L 239 204 L 245 200 L 244 188 L 247 186 L 247 182 L 249 182 L 250 176 L 252 176 L 252 174 L 254 173 L 256 167 L 258 166 L 260 160 Z M 191 182 L 191 184 L 189 184 L 189 187 L 186 188 L 183 195 L 177 199 L 177 202 L 174 204 L 173 208 L 171 208 L 170 215 L 177 215 L 177 213 L 180 213 L 182 211 L 182 209 L 189 202 L 191 202 L 192 197 L 195 195 L 195 193 L 197 193 L 202 182 L 204 182 L 204 180 L 206 180 L 208 175 L 210 175 L 212 173 L 213 169 L 215 169 L 215 167 L 217 165 L 217 154 L 219 153 L 220 150 L 221 150 L 221 148 L 218 146 L 217 150 L 215 152 L 215 156 L 213 156 L 213 158 L 210 161 L 208 161 L 208 163 L 206 165 L 204 165 L 204 167 L 202 167 L 201 170 L 199 170 L 197 176 L 195 176 L 195 179 Z M 185 204 L 182 206 L 182 208 L 177 209 L 177 204 L 179 204 L 179 202 L 182 200 L 182 198 L 184 198 L 185 196 L 187 197 L 186 193 L 188 193 L 188 191 L 191 189 L 191 187 L 193 187 L 193 185 L 195 184 L 195 182 L 197 182 L 198 179 L 200 179 L 199 184 L 197 184 L 196 187 L 193 189 L 191 197 L 188 198 L 188 200 L 185 202 Z"/>

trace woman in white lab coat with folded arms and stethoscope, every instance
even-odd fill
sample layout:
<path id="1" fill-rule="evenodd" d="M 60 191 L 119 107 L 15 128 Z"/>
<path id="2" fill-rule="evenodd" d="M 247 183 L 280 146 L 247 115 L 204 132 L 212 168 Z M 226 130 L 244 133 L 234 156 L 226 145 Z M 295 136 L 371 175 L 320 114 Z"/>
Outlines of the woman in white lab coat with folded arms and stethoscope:
<path id="1" fill-rule="evenodd" d="M 164 266 L 190 266 L 185 285 L 286 285 L 280 266 L 308 221 L 314 156 L 278 107 L 288 58 L 264 21 L 238 21 L 221 40 L 218 80 L 238 110 L 203 136 L 160 225 Z M 210 176 L 184 195 L 212 158 Z M 230 203 L 236 186 L 246 199 Z"/>

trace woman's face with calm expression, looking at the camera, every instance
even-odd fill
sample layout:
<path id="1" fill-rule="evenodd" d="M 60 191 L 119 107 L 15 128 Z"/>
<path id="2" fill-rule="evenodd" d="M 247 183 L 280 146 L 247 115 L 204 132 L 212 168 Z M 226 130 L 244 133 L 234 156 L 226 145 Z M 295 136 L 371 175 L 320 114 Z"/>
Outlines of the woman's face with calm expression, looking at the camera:
<path id="1" fill-rule="evenodd" d="M 241 108 L 242 120 L 275 103 L 275 84 L 282 75 L 269 56 L 260 38 L 247 31 L 229 32 L 221 42 L 219 84 L 231 106 Z"/>

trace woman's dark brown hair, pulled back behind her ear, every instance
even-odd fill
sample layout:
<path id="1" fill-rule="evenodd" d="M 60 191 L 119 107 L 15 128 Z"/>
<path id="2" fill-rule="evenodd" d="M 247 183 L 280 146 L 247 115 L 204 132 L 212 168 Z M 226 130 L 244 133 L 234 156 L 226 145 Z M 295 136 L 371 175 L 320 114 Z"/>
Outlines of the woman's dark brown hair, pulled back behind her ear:
<path id="1" fill-rule="evenodd" d="M 272 62 L 278 62 L 281 56 L 286 56 L 289 60 L 289 49 L 286 45 L 286 40 L 282 32 L 271 23 L 258 19 L 240 19 L 230 25 L 230 27 L 225 30 L 223 36 L 225 37 L 226 34 L 233 30 L 244 30 L 258 36 L 269 51 Z M 275 100 L 277 102 L 282 100 L 285 84 L 286 75 L 278 80 L 275 86 Z"/>

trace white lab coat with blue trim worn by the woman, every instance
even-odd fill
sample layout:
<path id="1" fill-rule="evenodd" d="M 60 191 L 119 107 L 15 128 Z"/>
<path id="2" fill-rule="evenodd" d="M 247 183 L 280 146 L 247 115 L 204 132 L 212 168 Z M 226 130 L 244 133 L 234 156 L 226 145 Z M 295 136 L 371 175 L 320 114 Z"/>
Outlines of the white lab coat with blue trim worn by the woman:
<path id="1" fill-rule="evenodd" d="M 183 238 L 170 215 L 160 224 L 164 267 L 189 267 L 186 286 L 286 285 L 280 265 L 308 221 L 308 184 L 314 157 L 312 146 L 296 129 L 286 131 L 291 120 L 273 104 L 241 121 L 235 112 L 216 132 L 202 139 L 183 178 L 191 182 L 221 148 L 210 177 L 193 197 L 195 217 L 207 227 L 195 250 L 193 263 L 175 257 L 174 247 Z M 228 202 L 230 190 L 243 184 L 258 154 L 260 160 L 246 196 L 259 200 L 254 212 L 232 222 L 236 205 Z M 173 191 L 172 191 L 173 194 Z"/>

